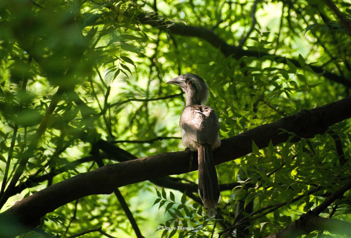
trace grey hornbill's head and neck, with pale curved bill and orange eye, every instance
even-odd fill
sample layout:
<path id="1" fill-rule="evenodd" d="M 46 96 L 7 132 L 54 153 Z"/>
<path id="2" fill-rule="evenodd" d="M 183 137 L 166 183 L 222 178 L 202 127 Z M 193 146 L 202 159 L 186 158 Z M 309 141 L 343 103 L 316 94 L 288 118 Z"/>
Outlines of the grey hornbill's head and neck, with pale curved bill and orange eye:
<path id="1" fill-rule="evenodd" d="M 180 86 L 186 94 L 186 105 L 205 104 L 208 101 L 207 84 L 200 76 L 186 73 L 168 80 L 166 83 Z"/>

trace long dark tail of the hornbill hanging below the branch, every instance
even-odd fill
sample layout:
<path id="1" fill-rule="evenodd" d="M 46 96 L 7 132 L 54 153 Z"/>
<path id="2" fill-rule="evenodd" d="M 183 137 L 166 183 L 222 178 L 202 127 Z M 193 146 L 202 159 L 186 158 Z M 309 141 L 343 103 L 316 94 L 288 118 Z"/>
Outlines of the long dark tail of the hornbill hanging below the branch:
<path id="1" fill-rule="evenodd" d="M 220 200 L 220 191 L 216 167 L 214 166 L 212 149 L 209 144 L 198 147 L 199 161 L 199 195 L 209 217 L 217 215 L 217 204 Z"/>

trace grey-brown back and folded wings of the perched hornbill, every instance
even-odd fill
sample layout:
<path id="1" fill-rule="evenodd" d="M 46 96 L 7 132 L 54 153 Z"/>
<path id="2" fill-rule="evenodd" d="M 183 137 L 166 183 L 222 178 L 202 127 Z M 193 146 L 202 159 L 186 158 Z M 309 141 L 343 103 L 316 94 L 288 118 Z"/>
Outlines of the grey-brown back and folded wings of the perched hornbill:
<path id="1" fill-rule="evenodd" d="M 218 137 L 218 117 L 209 106 L 190 105 L 185 107 L 181 113 L 179 124 L 190 139 L 200 144 L 213 144 Z"/>

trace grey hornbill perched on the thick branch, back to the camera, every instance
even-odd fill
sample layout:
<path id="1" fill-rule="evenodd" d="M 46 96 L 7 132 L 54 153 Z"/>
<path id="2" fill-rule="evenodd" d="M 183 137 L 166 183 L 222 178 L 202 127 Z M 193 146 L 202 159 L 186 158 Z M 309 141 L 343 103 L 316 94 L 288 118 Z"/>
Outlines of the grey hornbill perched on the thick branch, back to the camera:
<path id="1" fill-rule="evenodd" d="M 220 191 L 212 150 L 220 146 L 219 122 L 216 112 L 206 105 L 208 88 L 204 79 L 193 73 L 180 75 L 167 81 L 186 94 L 186 106 L 181 112 L 179 125 L 186 148 L 198 151 L 199 195 L 209 217 L 217 215 Z"/>

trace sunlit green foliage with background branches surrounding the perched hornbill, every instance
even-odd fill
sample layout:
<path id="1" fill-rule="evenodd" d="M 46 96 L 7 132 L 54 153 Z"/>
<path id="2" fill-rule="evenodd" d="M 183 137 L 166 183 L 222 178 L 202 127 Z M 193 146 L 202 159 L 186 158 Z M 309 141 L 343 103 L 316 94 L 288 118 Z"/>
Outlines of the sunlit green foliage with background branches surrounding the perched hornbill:
<path id="1" fill-rule="evenodd" d="M 347 237 L 350 14 L 343 0 L 1 1 L 0 221 L 18 223 L 0 225 L 0 236 Z M 185 173 L 196 154 L 162 154 L 184 149 L 184 95 L 164 82 L 186 72 L 207 82 L 221 139 L 258 138 L 250 151 L 238 139 L 217 153 L 232 157 L 217 158 L 216 219 L 203 210 L 197 173 Z M 335 118 L 309 110 L 338 100 Z M 258 129 L 291 115 L 302 134 L 279 127 L 279 141 Z M 125 186 L 103 174 L 142 157 L 148 168 L 154 155 L 190 165 L 120 171 Z M 74 197 L 67 191 L 83 188 L 63 186 L 62 206 L 37 204 L 48 210 L 40 220 L 37 206 L 13 215 L 99 167 L 102 192 Z"/>

